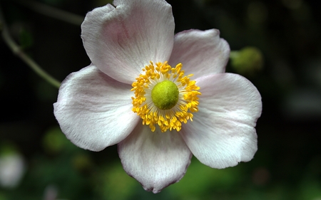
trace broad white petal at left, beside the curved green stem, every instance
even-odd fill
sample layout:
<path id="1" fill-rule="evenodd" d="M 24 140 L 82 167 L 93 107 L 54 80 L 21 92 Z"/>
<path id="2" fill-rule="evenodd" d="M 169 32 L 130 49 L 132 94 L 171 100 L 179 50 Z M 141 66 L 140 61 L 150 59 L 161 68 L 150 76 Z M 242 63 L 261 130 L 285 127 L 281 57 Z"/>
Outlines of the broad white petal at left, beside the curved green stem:
<path id="1" fill-rule="evenodd" d="M 54 103 L 62 132 L 83 149 L 100 151 L 127 137 L 140 119 L 131 111 L 131 85 L 89 65 L 67 76 Z"/>

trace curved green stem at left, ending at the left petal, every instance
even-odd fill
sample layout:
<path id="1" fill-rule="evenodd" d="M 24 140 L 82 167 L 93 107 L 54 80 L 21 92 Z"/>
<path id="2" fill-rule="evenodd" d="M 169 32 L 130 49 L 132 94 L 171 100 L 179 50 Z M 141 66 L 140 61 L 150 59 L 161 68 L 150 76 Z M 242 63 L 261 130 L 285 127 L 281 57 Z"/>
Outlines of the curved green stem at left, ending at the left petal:
<path id="1" fill-rule="evenodd" d="M 11 49 L 11 51 L 24 60 L 24 62 L 29 65 L 29 67 L 34 70 L 41 78 L 44 78 L 48 83 L 54 85 L 56 88 L 60 87 L 60 82 L 53 78 L 49 73 L 46 73 L 34 60 L 32 60 L 29 56 L 21 50 L 21 47 L 16 44 L 16 42 L 11 38 L 9 34 L 8 27 L 6 26 L 6 22 L 4 21 L 4 16 L 2 15 L 2 9 L 0 6 L 0 28 L 1 28 L 1 36 L 4 39 L 4 42 Z"/>

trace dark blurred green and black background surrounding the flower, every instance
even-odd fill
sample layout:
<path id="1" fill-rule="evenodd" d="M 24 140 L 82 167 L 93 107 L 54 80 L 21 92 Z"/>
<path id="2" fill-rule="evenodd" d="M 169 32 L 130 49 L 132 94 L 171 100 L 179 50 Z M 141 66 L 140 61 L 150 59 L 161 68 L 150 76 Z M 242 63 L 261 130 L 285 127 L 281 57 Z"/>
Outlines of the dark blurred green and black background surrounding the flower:
<path id="1" fill-rule="evenodd" d="M 62 81 L 87 66 L 80 24 L 111 1 L 1 0 L 14 40 Z M 185 177 L 159 194 L 121 167 L 117 147 L 71 144 L 52 104 L 58 89 L 0 40 L 0 200 L 321 199 L 321 12 L 314 0 L 169 0 L 175 32 L 218 28 L 232 50 L 227 71 L 258 88 L 258 152 L 247 163 L 211 169 L 193 158 Z M 51 11 L 76 14 L 50 16 Z M 0 22 L 0 29 L 3 27 Z"/>

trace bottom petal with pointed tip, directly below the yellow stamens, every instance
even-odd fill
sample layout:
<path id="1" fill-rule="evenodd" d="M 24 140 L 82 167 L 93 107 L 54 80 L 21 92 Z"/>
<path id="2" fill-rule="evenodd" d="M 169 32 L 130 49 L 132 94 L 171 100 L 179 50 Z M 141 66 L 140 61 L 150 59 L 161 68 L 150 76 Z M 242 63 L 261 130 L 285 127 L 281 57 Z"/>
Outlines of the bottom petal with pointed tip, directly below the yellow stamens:
<path id="1" fill-rule="evenodd" d="M 179 181 L 192 157 L 178 132 L 151 132 L 147 125 L 138 125 L 120 142 L 118 154 L 125 171 L 153 193 Z"/>

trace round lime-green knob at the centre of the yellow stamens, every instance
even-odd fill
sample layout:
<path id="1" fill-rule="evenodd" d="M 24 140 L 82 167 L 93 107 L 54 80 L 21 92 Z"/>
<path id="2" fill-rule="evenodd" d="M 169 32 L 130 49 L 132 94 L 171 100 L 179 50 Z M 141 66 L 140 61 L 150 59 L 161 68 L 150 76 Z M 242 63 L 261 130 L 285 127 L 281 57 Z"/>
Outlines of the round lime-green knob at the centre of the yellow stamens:
<path id="1" fill-rule="evenodd" d="M 169 110 L 178 102 L 178 87 L 170 80 L 163 80 L 157 83 L 152 92 L 151 98 L 154 105 L 161 110 Z"/>

